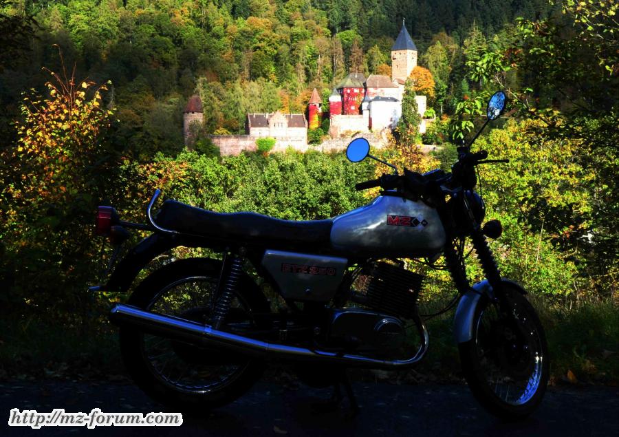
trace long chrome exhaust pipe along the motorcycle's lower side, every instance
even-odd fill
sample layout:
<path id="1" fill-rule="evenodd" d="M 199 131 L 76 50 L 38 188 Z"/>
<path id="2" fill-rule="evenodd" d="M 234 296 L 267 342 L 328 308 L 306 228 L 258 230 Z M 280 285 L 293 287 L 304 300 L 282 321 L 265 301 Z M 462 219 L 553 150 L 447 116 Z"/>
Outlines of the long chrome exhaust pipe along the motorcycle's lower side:
<path id="1" fill-rule="evenodd" d="M 109 319 L 116 325 L 133 326 L 144 330 L 144 332 L 157 334 L 161 337 L 185 341 L 199 346 L 226 349 L 258 358 L 278 357 L 289 360 L 296 359 L 301 361 L 395 370 L 417 364 L 428 350 L 428 331 L 423 323 L 421 324 L 422 344 L 415 356 L 407 360 L 389 361 L 368 358 L 367 356 L 361 355 L 297 348 L 296 346 L 279 343 L 267 343 L 261 340 L 242 337 L 241 335 L 232 334 L 230 332 L 216 330 L 211 326 L 202 325 L 201 323 L 187 319 L 181 319 L 180 317 L 160 315 L 156 312 L 140 310 L 140 308 L 130 305 L 118 304 L 114 306 L 110 312 Z"/>

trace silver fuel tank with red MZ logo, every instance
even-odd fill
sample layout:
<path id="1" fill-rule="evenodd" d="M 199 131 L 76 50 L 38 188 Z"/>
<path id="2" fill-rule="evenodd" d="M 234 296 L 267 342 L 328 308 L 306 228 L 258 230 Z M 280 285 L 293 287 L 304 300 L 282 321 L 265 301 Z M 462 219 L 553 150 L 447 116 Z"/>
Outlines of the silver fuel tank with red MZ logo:
<path id="1" fill-rule="evenodd" d="M 424 202 L 383 195 L 335 217 L 331 243 L 347 255 L 432 257 L 443 249 L 445 230 Z"/>

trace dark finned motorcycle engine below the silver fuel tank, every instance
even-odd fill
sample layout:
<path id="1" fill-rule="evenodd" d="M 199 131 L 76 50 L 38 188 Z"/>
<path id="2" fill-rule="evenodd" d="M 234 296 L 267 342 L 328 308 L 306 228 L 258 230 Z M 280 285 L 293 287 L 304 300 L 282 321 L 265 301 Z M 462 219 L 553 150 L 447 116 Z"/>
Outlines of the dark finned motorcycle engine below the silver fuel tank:
<path id="1" fill-rule="evenodd" d="M 330 345 L 376 356 L 397 354 L 406 332 L 402 319 L 417 317 L 417 300 L 424 277 L 386 262 L 371 263 L 355 281 L 354 301 L 367 308 L 331 312 Z"/>

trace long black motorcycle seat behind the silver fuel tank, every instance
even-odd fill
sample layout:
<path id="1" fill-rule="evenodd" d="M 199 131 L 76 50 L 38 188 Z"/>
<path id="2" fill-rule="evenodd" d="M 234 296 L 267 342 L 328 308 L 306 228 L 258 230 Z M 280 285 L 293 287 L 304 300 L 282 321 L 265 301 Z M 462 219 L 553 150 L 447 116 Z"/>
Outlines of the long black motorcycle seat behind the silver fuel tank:
<path id="1" fill-rule="evenodd" d="M 296 222 L 257 213 L 215 213 L 166 200 L 155 223 L 180 233 L 278 246 L 329 244 L 332 220 Z"/>

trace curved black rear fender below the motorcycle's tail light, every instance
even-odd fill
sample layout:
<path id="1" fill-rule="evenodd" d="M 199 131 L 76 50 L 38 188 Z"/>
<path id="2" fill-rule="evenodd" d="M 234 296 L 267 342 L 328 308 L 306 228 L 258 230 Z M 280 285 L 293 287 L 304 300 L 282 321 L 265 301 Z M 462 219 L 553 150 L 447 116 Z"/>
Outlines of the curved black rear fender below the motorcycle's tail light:
<path id="1" fill-rule="evenodd" d="M 138 273 L 144 269 L 149 262 L 162 253 L 172 248 L 181 246 L 180 238 L 176 235 L 163 235 L 155 233 L 135 246 L 124 256 L 113 270 L 107 285 L 103 290 L 126 292 L 129 290 L 133 280 Z"/>

